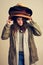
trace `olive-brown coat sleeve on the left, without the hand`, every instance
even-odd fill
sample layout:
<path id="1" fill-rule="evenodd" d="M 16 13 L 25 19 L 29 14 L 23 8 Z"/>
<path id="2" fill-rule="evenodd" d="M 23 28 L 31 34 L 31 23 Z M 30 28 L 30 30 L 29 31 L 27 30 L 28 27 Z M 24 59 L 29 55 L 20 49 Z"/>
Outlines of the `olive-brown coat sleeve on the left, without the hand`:
<path id="1" fill-rule="evenodd" d="M 10 25 L 6 24 L 3 28 L 1 39 L 5 40 L 8 39 L 10 36 Z"/>

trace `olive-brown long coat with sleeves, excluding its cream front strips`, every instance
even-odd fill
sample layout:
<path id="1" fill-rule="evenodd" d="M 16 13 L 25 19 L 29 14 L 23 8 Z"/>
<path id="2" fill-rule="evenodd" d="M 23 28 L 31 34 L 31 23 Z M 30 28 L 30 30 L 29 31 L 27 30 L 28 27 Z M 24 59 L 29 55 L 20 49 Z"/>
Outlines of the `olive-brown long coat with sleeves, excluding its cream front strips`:
<path id="1" fill-rule="evenodd" d="M 30 52 L 30 64 L 35 63 L 38 60 L 37 56 L 37 48 L 34 43 L 33 34 L 36 36 L 40 36 L 41 32 L 39 26 L 31 21 L 28 26 L 29 31 L 29 52 Z M 10 48 L 9 48 L 9 56 L 8 63 L 9 65 L 17 65 L 17 54 L 16 54 L 16 41 L 14 36 L 14 31 L 11 30 L 11 27 L 6 24 L 4 26 L 1 38 L 3 40 L 10 38 Z"/>

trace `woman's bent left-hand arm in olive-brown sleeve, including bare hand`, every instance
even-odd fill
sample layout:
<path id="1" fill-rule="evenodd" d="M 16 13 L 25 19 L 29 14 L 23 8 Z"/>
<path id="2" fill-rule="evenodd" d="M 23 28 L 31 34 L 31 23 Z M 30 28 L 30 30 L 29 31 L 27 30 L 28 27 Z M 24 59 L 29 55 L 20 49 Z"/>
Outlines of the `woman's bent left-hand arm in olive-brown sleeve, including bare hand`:
<path id="1" fill-rule="evenodd" d="M 3 40 L 8 39 L 10 37 L 10 27 L 13 24 L 13 21 L 11 19 L 8 19 L 6 25 L 3 28 L 1 38 Z"/>

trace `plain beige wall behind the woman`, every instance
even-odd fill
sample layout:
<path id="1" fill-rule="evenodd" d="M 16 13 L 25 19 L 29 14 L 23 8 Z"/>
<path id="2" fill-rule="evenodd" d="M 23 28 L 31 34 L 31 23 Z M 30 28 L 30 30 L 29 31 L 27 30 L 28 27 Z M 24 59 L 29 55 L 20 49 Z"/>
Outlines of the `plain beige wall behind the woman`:
<path id="1" fill-rule="evenodd" d="M 11 6 L 22 3 L 33 10 L 32 18 L 40 26 L 42 36 L 34 36 L 38 50 L 39 61 L 36 65 L 43 65 L 43 0 L 1 0 L 0 1 L 0 65 L 8 65 L 9 39 L 1 40 L 1 33 L 8 18 Z"/>

